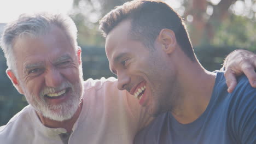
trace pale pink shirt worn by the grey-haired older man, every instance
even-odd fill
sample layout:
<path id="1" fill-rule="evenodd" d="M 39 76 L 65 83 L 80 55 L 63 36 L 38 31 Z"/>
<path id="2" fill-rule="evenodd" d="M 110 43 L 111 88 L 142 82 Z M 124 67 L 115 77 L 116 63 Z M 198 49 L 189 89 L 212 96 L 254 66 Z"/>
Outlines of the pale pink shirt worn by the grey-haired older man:
<path id="1" fill-rule="evenodd" d="M 86 80 L 80 116 L 69 143 L 132 143 L 150 118 L 138 100 L 117 89 L 117 79 Z M 63 128 L 45 127 L 31 105 L 0 127 L 0 143 L 63 143 Z"/>

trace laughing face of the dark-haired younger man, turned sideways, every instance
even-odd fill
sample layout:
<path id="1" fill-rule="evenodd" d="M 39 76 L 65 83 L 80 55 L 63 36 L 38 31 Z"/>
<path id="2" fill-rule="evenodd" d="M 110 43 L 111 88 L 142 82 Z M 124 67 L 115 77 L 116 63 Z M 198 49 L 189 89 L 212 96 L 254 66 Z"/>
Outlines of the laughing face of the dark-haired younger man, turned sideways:
<path id="1" fill-rule="evenodd" d="M 172 70 L 166 70 L 165 54 L 159 44 L 146 47 L 139 40 L 132 40 L 130 20 L 116 26 L 106 38 L 106 54 L 110 70 L 118 77 L 118 88 L 134 95 L 150 115 L 170 109 Z"/>

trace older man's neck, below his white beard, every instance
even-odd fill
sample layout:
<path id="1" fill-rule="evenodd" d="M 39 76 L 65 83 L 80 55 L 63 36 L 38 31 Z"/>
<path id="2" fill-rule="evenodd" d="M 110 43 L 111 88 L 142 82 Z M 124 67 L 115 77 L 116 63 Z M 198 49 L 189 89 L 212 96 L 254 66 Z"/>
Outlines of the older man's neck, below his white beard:
<path id="1" fill-rule="evenodd" d="M 67 119 L 65 121 L 54 121 L 52 119 L 44 117 L 41 113 L 37 112 L 37 115 L 40 121 L 49 128 L 65 128 L 67 132 L 71 132 L 74 123 L 77 121 L 81 111 L 82 111 L 83 101 L 79 104 L 77 111 L 71 119 Z"/>

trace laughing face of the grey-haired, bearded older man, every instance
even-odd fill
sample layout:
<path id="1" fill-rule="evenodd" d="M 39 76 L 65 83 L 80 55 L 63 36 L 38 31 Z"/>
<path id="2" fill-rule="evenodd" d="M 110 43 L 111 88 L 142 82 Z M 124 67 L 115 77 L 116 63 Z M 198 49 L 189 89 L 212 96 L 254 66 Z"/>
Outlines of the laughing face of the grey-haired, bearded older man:
<path id="1" fill-rule="evenodd" d="M 25 36 L 14 44 L 18 89 L 44 117 L 71 118 L 83 94 L 82 67 L 74 46 L 60 28 L 37 38 Z"/>

